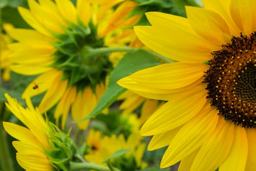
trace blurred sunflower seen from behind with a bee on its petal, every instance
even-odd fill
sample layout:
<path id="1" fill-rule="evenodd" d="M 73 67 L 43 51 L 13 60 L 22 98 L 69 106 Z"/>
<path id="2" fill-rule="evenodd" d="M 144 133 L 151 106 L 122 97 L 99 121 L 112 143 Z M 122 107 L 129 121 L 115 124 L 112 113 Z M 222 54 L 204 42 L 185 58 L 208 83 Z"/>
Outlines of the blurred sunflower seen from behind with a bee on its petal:
<path id="1" fill-rule="evenodd" d="M 11 70 L 22 75 L 38 75 L 22 98 L 46 92 L 39 104 L 44 113 L 55 104 L 55 118 L 68 113 L 79 120 L 94 109 L 105 90 L 105 80 L 115 61 L 97 48 L 119 47 L 136 40 L 132 29 L 140 16 L 127 17 L 137 5 L 132 1 L 29 0 L 29 8 L 18 7 L 20 15 L 34 29 L 14 29 L 18 42 L 13 51 Z M 115 7 L 115 10 L 113 10 Z M 86 129 L 89 120 L 78 123 Z"/>

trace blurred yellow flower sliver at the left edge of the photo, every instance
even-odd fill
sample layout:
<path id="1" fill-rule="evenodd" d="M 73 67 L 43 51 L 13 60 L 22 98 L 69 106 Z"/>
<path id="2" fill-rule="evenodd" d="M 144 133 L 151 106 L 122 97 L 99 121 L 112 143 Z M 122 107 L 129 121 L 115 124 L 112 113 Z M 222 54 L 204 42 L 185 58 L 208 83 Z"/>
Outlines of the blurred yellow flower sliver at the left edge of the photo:
<path id="1" fill-rule="evenodd" d="M 9 81 L 10 77 L 10 54 L 11 51 L 8 49 L 7 45 L 12 42 L 8 32 L 13 28 L 11 24 L 4 24 L 3 31 L 5 33 L 0 33 L 0 69 L 4 70 L 3 72 L 3 80 Z M 6 34 L 7 33 L 7 34 Z"/>

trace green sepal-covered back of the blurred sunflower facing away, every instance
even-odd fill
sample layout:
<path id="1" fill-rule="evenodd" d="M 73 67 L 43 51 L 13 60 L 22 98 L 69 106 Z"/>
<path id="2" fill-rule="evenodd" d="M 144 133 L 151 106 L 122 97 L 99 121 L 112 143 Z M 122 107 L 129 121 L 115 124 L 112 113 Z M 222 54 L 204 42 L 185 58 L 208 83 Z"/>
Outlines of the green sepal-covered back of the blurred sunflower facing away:
<path id="1" fill-rule="evenodd" d="M 112 62 L 106 54 L 88 55 L 88 49 L 104 46 L 92 23 L 89 26 L 71 23 L 65 33 L 54 36 L 57 41 L 53 46 L 57 51 L 52 54 L 55 59 L 52 67 L 63 71 L 62 79 L 68 79 L 69 86 L 76 86 L 77 90 L 90 86 L 95 90 L 96 84 L 104 82 L 112 70 Z"/>

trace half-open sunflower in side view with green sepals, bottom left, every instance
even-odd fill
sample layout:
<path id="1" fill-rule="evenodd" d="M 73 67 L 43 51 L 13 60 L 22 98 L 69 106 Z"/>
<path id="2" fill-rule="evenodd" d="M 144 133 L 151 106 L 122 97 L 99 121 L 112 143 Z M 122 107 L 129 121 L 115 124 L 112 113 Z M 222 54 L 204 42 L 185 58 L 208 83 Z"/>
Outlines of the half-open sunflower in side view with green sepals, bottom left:
<path id="1" fill-rule="evenodd" d="M 79 157 L 76 144 L 56 125 L 47 122 L 29 98 L 28 108 L 24 109 L 16 99 L 5 96 L 9 110 L 26 126 L 3 122 L 6 132 L 18 140 L 12 144 L 19 165 L 26 170 L 68 170 L 70 161 Z"/>

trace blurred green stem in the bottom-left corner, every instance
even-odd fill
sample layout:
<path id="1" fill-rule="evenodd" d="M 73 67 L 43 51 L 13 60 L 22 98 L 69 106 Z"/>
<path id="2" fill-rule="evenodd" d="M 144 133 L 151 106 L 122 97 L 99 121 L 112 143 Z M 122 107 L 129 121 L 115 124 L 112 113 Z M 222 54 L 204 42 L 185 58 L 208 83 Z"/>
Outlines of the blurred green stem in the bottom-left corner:
<path id="1" fill-rule="evenodd" d="M 0 160 L 2 170 L 14 171 L 12 158 L 9 152 L 7 134 L 3 128 L 3 121 L 0 121 Z"/>

